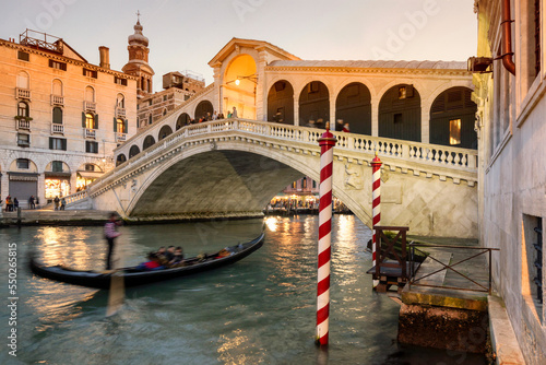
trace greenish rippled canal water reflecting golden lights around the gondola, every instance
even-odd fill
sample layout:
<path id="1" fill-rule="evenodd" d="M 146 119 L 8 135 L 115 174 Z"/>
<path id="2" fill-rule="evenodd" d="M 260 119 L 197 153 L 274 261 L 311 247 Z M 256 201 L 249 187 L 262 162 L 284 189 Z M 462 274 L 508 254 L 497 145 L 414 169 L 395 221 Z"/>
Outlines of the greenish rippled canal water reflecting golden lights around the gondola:
<path id="1" fill-rule="evenodd" d="M 158 246 L 187 256 L 256 237 L 262 248 L 214 271 L 126 291 L 106 317 L 108 292 L 34 276 L 27 255 L 48 264 L 100 269 L 102 227 L 0 229 L 2 329 L 0 364 L 485 364 L 483 356 L 396 343 L 399 305 L 371 291 L 365 272 L 370 231 L 335 215 L 332 238 L 330 345 L 313 342 L 318 216 L 173 225 L 122 226 L 118 263 L 139 263 Z M 16 244 L 16 325 L 7 305 L 9 244 Z M 8 354 L 16 328 L 17 356 Z"/>

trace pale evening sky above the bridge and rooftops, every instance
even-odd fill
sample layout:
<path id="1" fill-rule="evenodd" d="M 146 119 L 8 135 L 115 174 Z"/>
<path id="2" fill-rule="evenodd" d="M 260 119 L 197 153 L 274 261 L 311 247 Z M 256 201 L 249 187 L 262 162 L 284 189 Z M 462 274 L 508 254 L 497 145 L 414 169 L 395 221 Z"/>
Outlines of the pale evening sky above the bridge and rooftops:
<path id="1" fill-rule="evenodd" d="M 0 38 L 45 32 L 94 64 L 106 46 L 111 69 L 121 70 L 138 11 L 155 92 L 170 71 L 211 83 L 207 62 L 233 37 L 305 60 L 466 61 L 477 49 L 474 0 L 19 0 L 2 4 Z"/>

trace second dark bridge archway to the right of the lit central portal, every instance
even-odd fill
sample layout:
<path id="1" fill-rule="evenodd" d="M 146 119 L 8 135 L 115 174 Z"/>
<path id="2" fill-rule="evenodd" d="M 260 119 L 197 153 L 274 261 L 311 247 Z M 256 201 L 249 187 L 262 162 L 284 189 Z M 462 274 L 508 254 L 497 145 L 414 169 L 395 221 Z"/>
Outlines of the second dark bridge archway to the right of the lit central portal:
<path id="1" fill-rule="evenodd" d="M 311 81 L 299 94 L 299 125 L 324 128 L 330 120 L 330 94 L 321 81 Z"/>

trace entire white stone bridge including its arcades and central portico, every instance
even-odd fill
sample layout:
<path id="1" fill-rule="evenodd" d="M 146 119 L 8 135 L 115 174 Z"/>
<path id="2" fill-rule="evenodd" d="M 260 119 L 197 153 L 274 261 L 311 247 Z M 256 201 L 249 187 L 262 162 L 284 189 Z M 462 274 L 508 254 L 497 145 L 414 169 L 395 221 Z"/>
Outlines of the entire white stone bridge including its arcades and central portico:
<path id="1" fill-rule="evenodd" d="M 114 151 L 116 169 L 70 197 L 69 209 L 132 220 L 253 216 L 294 180 L 319 180 L 324 130 L 310 127 L 343 120 L 352 133 L 335 133 L 333 193 L 364 223 L 378 152 L 382 224 L 477 236 L 476 104 L 464 63 L 305 61 L 234 38 L 209 64 L 214 83 L 141 123 Z M 189 123 L 233 107 L 238 118 Z"/>

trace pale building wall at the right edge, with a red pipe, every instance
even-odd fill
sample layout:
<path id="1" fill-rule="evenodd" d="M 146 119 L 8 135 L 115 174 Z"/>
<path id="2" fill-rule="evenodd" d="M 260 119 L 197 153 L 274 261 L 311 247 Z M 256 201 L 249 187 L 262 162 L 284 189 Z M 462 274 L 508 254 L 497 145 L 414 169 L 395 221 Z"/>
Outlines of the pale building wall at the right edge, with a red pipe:
<path id="1" fill-rule="evenodd" d="M 527 364 L 546 364 L 546 2 L 475 1 L 479 234 Z M 513 21 L 513 22 L 512 22 Z M 512 42 L 513 39 L 513 42 Z"/>

